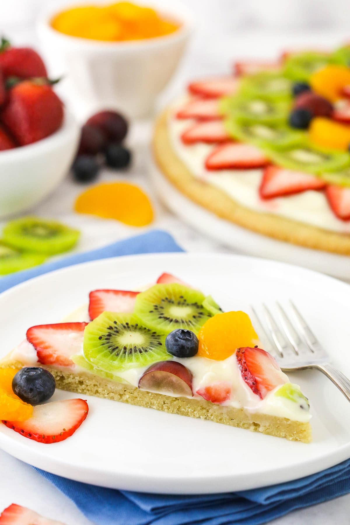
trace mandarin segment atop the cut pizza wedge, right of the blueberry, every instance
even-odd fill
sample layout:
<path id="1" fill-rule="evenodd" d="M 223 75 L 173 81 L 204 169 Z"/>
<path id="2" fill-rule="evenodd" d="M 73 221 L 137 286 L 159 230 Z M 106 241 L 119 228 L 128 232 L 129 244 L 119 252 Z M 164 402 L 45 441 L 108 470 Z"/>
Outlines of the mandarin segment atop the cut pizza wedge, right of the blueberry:
<path id="1" fill-rule="evenodd" d="M 247 313 L 217 313 L 201 327 L 198 353 L 203 358 L 222 361 L 241 346 L 254 346 L 259 338 Z"/>

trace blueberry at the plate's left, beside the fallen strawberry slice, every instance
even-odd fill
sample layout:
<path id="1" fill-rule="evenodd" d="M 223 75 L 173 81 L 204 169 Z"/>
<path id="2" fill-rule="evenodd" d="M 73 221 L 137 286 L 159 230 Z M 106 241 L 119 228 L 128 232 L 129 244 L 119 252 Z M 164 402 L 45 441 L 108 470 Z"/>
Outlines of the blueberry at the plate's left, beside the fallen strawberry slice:
<path id="1" fill-rule="evenodd" d="M 12 380 L 14 393 L 30 405 L 38 405 L 49 400 L 55 388 L 55 377 L 37 366 L 27 366 L 19 370 Z"/>

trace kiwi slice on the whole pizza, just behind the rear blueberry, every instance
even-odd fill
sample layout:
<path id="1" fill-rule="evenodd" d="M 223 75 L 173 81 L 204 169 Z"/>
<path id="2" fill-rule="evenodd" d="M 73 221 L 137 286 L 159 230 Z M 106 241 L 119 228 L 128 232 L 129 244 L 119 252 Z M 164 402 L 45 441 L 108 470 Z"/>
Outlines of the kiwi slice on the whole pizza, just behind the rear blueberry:
<path id="1" fill-rule="evenodd" d="M 284 74 L 292 80 L 307 81 L 317 70 L 322 69 L 332 61 L 328 53 L 305 51 L 295 53 L 285 61 Z"/>

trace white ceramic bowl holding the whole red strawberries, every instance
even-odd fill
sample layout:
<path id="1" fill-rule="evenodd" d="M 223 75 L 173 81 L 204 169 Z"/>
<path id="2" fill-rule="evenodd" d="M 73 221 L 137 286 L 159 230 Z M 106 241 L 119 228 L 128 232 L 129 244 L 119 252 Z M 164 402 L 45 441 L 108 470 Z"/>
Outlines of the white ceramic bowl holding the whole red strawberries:
<path id="1" fill-rule="evenodd" d="M 27 211 L 61 182 L 76 153 L 80 128 L 65 112 L 62 127 L 34 144 L 0 152 L 0 218 Z"/>

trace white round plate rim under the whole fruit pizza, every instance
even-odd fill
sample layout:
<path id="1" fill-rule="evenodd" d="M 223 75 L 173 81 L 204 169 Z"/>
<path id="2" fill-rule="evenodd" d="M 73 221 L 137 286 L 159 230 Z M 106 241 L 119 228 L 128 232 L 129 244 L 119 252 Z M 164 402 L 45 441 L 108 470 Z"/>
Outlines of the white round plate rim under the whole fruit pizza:
<path id="1" fill-rule="evenodd" d="M 153 160 L 150 160 L 150 173 L 161 201 L 202 234 L 241 253 L 289 262 L 350 281 L 349 256 L 303 248 L 242 228 L 188 199 L 166 180 Z"/>

